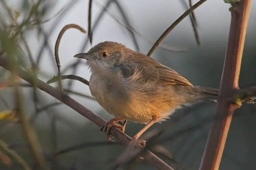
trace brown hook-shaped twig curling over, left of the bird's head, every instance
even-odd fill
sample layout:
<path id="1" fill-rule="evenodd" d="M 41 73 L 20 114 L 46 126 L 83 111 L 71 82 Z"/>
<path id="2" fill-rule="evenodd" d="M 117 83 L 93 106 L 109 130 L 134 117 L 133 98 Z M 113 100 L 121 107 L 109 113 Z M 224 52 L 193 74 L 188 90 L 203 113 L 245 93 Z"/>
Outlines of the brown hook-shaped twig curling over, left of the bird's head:
<path id="1" fill-rule="evenodd" d="M 80 30 L 81 32 L 83 33 L 86 33 L 86 31 L 80 27 L 79 25 L 76 25 L 76 24 L 68 24 L 68 25 L 65 25 L 59 35 L 58 35 L 58 38 L 56 40 L 56 43 L 55 43 L 55 48 L 54 48 L 54 55 L 55 55 L 55 61 L 56 61 L 56 64 L 57 64 L 57 69 L 58 69 L 58 78 L 59 78 L 59 87 L 60 87 L 60 90 L 62 91 L 63 90 L 63 87 L 62 87 L 62 84 L 61 84 L 61 75 L 60 75 L 60 58 L 59 58 L 59 45 L 60 45 L 60 40 L 63 36 L 63 34 L 65 33 L 65 31 L 67 31 L 68 29 L 70 28 L 75 28 L 75 29 L 78 29 Z"/>

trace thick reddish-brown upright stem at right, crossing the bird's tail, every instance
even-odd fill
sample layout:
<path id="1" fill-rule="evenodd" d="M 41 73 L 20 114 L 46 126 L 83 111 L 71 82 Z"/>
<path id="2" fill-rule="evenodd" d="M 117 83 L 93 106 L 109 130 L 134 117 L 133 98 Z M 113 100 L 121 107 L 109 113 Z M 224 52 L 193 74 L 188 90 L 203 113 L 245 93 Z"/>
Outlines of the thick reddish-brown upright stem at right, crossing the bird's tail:
<path id="1" fill-rule="evenodd" d="M 242 0 L 231 8 L 231 24 L 228 47 L 220 83 L 220 94 L 238 87 L 238 79 L 244 49 L 244 41 L 249 18 L 251 0 Z M 220 99 L 210 129 L 200 170 L 218 170 L 224 150 L 232 114 L 237 105 Z"/>

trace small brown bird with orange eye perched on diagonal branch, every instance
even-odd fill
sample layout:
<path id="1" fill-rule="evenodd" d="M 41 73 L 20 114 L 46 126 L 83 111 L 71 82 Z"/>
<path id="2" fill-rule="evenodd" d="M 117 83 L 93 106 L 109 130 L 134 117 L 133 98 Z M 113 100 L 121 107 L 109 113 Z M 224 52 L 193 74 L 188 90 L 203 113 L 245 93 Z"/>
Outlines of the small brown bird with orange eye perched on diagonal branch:
<path id="1" fill-rule="evenodd" d="M 118 121 L 146 124 L 132 141 L 136 141 L 155 122 L 164 121 L 175 109 L 202 100 L 216 100 L 218 89 L 193 86 L 174 70 L 154 59 L 116 42 L 102 42 L 88 53 L 75 55 L 86 59 L 92 72 L 91 94 L 115 118 L 101 127 L 110 139 L 112 126 L 124 132 Z M 245 100 L 253 102 L 252 99 Z M 144 140 L 140 141 L 145 144 Z"/>

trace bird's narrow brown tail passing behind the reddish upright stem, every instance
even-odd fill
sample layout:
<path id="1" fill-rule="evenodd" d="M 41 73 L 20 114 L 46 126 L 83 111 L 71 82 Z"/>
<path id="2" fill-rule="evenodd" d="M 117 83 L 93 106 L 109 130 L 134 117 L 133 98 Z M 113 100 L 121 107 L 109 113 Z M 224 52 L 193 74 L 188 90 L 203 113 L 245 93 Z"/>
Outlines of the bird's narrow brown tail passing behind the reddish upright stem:
<path id="1" fill-rule="evenodd" d="M 191 86 L 191 88 L 193 88 L 195 92 L 200 93 L 200 94 L 205 94 L 205 98 L 208 100 L 212 100 L 212 101 L 217 101 L 217 97 L 219 94 L 219 89 L 217 88 L 209 88 L 209 87 L 201 87 L 201 86 Z M 256 97 L 251 97 L 251 98 L 247 98 L 245 99 L 243 102 L 245 103 L 255 103 Z"/>

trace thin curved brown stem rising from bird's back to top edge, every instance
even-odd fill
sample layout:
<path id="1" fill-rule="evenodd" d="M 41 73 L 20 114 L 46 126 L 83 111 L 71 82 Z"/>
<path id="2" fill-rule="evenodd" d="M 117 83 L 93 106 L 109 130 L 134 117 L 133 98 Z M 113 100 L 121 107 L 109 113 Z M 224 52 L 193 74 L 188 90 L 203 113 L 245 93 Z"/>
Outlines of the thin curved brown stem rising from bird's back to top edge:
<path id="1" fill-rule="evenodd" d="M 155 44 L 151 47 L 151 49 L 148 52 L 148 56 L 151 56 L 151 54 L 156 50 L 157 46 L 163 41 L 163 39 L 176 27 L 186 16 L 188 16 L 191 12 L 193 12 L 197 7 L 202 5 L 206 0 L 200 0 L 195 5 L 193 5 L 191 8 L 189 8 L 184 14 L 182 14 L 169 28 L 165 30 L 165 32 L 157 39 Z"/>

